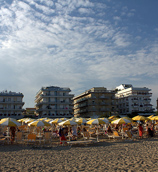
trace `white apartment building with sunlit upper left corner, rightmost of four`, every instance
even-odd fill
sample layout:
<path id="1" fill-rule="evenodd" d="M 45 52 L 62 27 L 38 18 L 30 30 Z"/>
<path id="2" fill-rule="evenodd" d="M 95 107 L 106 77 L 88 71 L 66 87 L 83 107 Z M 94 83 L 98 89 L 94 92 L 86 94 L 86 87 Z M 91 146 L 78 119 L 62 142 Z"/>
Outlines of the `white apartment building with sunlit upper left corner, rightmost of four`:
<path id="1" fill-rule="evenodd" d="M 133 112 L 153 112 L 151 102 L 151 89 L 146 87 L 133 87 L 131 84 L 122 84 L 116 87 L 115 98 L 119 114 L 131 114 Z"/>

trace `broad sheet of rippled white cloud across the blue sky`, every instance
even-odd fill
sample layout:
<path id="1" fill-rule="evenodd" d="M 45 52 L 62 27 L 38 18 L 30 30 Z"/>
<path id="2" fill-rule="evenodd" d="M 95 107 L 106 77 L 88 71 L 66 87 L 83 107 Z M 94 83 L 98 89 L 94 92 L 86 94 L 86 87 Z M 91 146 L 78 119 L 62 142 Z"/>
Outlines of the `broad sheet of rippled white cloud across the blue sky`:
<path id="1" fill-rule="evenodd" d="M 10 80 L 1 74 L 1 89 L 7 85 L 22 90 L 26 100 L 31 94 L 33 101 L 42 86 L 66 86 L 79 93 L 81 88 L 89 89 L 97 82 L 106 87 L 106 80 L 114 84 L 112 80 L 117 78 L 136 81 L 138 75 L 140 80 L 143 75 L 157 76 L 157 43 L 132 51 L 132 35 L 100 17 L 106 13 L 100 3 L 25 2 L 14 1 L 0 10 L 0 67 Z M 93 9 L 96 7 L 98 12 Z M 74 11 L 91 17 L 73 15 Z M 123 11 L 129 12 L 128 8 Z M 113 19 L 119 21 L 121 17 L 115 15 Z M 126 50 L 130 53 L 123 54 Z"/>

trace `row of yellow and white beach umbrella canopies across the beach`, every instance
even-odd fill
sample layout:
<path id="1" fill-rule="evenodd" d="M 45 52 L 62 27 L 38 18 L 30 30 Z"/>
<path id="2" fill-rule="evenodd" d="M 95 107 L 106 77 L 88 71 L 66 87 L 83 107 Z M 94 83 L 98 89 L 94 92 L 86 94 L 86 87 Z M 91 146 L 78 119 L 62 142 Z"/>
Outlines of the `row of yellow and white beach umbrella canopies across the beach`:
<path id="1" fill-rule="evenodd" d="M 72 118 L 72 119 L 20 119 L 16 120 L 14 118 L 3 118 L 0 121 L 0 124 L 3 126 L 20 126 L 21 124 L 19 122 L 25 122 L 28 123 L 28 126 L 51 126 L 51 124 L 58 124 L 58 125 L 77 125 L 77 124 L 89 124 L 89 125 L 98 125 L 98 124 L 107 124 L 110 122 L 111 119 L 107 118 L 97 118 L 97 119 L 87 119 L 85 118 Z M 126 124 L 131 123 L 132 121 L 144 121 L 144 120 L 158 120 L 158 116 L 150 116 L 150 117 L 144 117 L 144 116 L 135 116 L 134 118 L 118 118 L 113 120 L 112 124 Z"/>

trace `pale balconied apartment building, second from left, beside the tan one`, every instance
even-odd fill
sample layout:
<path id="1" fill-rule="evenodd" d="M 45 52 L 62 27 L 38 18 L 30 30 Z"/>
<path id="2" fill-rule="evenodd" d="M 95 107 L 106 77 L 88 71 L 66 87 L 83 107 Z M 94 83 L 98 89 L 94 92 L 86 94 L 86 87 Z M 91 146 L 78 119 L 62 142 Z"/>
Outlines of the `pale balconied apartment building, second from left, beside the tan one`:
<path id="1" fill-rule="evenodd" d="M 42 87 L 36 94 L 35 107 L 39 117 L 62 118 L 73 117 L 70 88 L 56 86 Z"/>

